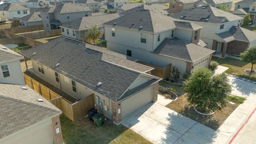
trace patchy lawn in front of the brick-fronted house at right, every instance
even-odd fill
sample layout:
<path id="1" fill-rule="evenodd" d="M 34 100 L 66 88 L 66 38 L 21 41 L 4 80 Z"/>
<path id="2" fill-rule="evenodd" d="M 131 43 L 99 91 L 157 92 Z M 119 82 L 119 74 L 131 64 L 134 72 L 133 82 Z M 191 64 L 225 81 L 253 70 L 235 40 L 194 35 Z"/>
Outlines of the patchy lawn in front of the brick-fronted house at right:
<path id="1" fill-rule="evenodd" d="M 226 73 L 228 74 L 233 74 L 233 75 L 241 76 L 241 77 L 256 81 L 255 75 L 249 75 L 244 73 L 245 69 L 251 69 L 252 65 L 250 63 L 243 62 L 237 59 L 232 59 L 232 58 L 222 59 L 222 58 L 212 57 L 212 60 L 217 61 L 218 63 L 220 63 L 221 66 L 229 67 L 229 69 L 226 70 Z M 254 68 L 254 70 L 256 69 Z"/>

